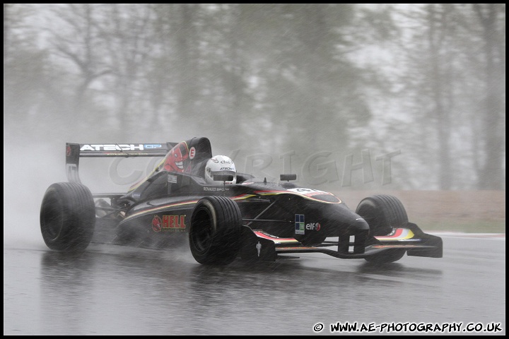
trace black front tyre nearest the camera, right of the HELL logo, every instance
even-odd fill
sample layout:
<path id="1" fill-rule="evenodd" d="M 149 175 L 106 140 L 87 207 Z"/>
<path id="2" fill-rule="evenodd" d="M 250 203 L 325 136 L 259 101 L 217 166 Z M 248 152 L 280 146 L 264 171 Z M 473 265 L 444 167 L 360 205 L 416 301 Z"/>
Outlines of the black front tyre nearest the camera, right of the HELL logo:
<path id="1" fill-rule="evenodd" d="M 226 196 L 205 196 L 194 207 L 189 227 L 192 256 L 203 265 L 228 265 L 240 251 L 242 215 Z"/>

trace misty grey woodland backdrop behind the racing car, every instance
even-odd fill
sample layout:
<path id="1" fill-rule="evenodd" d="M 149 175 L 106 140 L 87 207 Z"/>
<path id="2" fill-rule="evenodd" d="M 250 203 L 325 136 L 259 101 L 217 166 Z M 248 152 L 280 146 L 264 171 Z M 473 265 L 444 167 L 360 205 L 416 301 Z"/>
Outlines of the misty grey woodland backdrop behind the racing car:
<path id="1" fill-rule="evenodd" d="M 327 191 L 505 190 L 505 4 L 4 4 L 13 234 L 66 142 L 194 136 Z"/>

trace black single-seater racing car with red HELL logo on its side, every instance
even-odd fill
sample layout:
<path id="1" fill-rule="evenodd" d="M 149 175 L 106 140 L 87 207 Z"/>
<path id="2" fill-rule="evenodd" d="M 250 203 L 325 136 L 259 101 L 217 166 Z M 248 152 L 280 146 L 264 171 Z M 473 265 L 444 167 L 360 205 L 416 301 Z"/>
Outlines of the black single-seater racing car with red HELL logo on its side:
<path id="1" fill-rule="evenodd" d="M 91 193 L 81 183 L 81 157 L 160 157 L 162 160 L 125 194 Z M 90 242 L 168 248 L 189 241 L 204 265 L 235 258 L 275 261 L 317 252 L 373 263 L 409 256 L 442 257 L 442 239 L 409 222 L 394 196 L 364 198 L 355 211 L 337 196 L 250 174 L 204 179 L 212 157 L 208 138 L 180 143 L 66 143 L 69 182 L 49 186 L 42 200 L 42 237 L 56 251 L 83 251 Z"/>

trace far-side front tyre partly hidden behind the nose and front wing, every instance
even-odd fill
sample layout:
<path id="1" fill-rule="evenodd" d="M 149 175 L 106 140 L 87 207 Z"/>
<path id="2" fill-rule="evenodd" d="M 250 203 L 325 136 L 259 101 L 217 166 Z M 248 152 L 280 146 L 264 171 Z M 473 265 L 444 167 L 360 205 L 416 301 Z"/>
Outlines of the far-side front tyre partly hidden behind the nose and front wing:
<path id="1" fill-rule="evenodd" d="M 402 202 L 395 196 L 385 194 L 363 198 L 357 206 L 356 213 L 368 222 L 370 235 L 373 237 L 387 235 L 393 228 L 408 222 L 408 215 Z M 404 249 L 388 249 L 365 260 L 370 263 L 392 263 L 401 259 L 405 253 Z"/>

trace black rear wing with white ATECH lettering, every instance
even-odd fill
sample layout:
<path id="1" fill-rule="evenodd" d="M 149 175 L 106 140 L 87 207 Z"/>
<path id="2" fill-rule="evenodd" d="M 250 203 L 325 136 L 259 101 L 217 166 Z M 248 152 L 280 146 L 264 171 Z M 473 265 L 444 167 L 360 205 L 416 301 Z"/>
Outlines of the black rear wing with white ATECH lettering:
<path id="1" fill-rule="evenodd" d="M 177 143 L 66 143 L 66 176 L 81 183 L 81 157 L 164 157 Z"/>

